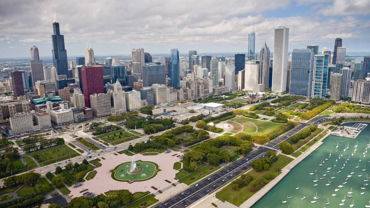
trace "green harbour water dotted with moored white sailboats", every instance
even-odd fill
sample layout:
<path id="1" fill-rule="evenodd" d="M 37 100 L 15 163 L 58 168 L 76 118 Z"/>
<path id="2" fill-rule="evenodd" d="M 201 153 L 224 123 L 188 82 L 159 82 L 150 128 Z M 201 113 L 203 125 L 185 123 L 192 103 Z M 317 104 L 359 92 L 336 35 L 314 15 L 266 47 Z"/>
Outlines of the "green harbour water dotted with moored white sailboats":
<path id="1" fill-rule="evenodd" d="M 350 126 L 352 124 L 346 124 Z M 323 144 L 320 145 L 314 152 L 308 155 L 303 161 L 294 167 L 289 174 L 287 174 L 278 184 L 275 185 L 263 198 L 261 198 L 252 208 L 266 208 L 266 207 L 288 207 L 290 208 L 305 208 L 305 207 L 340 207 L 339 204 L 341 200 L 346 195 L 344 201 L 344 207 L 349 207 L 352 204 L 352 200 L 354 200 L 355 208 L 356 207 L 365 207 L 365 205 L 369 204 L 370 201 L 370 185 L 364 186 L 364 184 L 370 184 L 370 181 L 364 182 L 363 180 L 366 179 L 366 174 L 370 177 L 370 148 L 368 148 L 368 152 L 365 154 L 366 157 L 364 158 L 363 152 L 365 152 L 366 144 L 369 144 L 370 139 L 370 125 L 368 125 L 356 139 L 346 138 L 346 137 L 339 137 L 335 135 L 330 135 L 329 137 L 323 140 Z M 339 142 L 339 147 L 336 148 L 337 141 L 344 141 L 343 143 Z M 352 151 L 354 149 L 354 145 L 358 142 L 358 147 L 356 153 L 351 156 Z M 344 147 L 349 143 L 349 149 L 345 152 Z M 328 158 L 330 150 L 332 151 L 332 157 Z M 337 150 L 337 152 L 335 151 Z M 343 156 L 338 159 L 339 155 L 343 154 Z M 347 163 L 348 156 L 351 156 Z M 359 162 L 361 156 L 361 162 Z M 325 163 L 319 167 L 320 160 L 328 158 Z M 338 162 L 335 160 L 338 159 Z M 359 162 L 359 168 L 356 168 L 357 162 Z M 336 167 L 334 167 L 336 164 Z M 345 166 L 343 166 L 345 164 Z M 366 165 L 366 171 L 362 171 L 364 169 L 364 165 Z M 343 166 L 344 168 L 341 170 L 340 167 Z M 327 168 L 331 167 L 328 171 Z M 352 177 L 350 177 L 346 182 L 347 184 L 342 184 L 344 182 L 344 178 L 347 178 L 347 175 L 350 175 L 350 172 L 353 172 Z M 316 178 L 316 174 L 310 175 L 309 173 L 317 170 L 317 177 L 319 181 L 317 182 L 317 186 L 314 186 L 313 180 Z M 340 173 L 336 171 L 341 170 Z M 334 179 L 330 179 L 332 177 L 334 171 Z M 323 174 L 327 174 L 323 176 Z M 362 177 L 358 177 L 361 174 Z M 324 179 L 320 180 L 320 177 L 324 177 Z M 328 184 L 328 180 L 333 180 L 331 185 L 326 186 Z M 342 188 L 339 188 L 338 185 L 343 185 Z M 297 186 L 299 189 L 296 190 Z M 347 192 L 350 192 L 352 187 L 353 197 L 347 197 Z M 366 187 L 366 189 L 361 189 L 361 187 Z M 340 189 L 339 191 L 334 191 L 334 189 Z M 314 195 L 320 197 L 316 199 L 316 203 L 311 203 L 313 201 Z M 365 192 L 365 194 L 360 194 L 361 192 Z M 332 196 L 332 194 L 337 194 L 336 196 Z M 292 198 L 287 198 L 288 196 L 292 196 Z M 301 199 L 301 197 L 306 197 L 305 199 Z M 329 205 L 324 205 L 327 202 L 327 198 L 329 198 Z M 282 203 L 282 201 L 287 201 L 287 203 Z"/>

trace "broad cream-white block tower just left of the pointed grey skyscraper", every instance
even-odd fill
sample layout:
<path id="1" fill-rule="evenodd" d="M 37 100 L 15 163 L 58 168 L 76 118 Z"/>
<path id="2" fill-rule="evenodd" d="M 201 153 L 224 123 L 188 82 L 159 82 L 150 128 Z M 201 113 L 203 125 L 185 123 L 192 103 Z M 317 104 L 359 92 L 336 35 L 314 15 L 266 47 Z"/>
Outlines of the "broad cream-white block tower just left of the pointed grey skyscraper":
<path id="1" fill-rule="evenodd" d="M 246 63 L 245 64 L 245 75 L 244 75 L 244 90 L 248 92 L 258 93 L 258 73 L 259 73 L 259 63 Z M 265 84 L 263 85 L 263 90 Z M 263 91 L 261 90 L 261 91 Z"/>

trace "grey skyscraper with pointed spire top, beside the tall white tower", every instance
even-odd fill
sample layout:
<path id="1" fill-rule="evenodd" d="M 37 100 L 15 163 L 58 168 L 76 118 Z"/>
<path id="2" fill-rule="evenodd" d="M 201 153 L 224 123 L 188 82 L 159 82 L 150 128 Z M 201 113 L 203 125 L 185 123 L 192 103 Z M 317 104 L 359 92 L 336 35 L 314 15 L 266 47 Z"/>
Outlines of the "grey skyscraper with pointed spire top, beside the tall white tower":
<path id="1" fill-rule="evenodd" d="M 259 52 L 258 84 L 264 84 L 265 90 L 269 88 L 270 49 L 266 42 Z"/>

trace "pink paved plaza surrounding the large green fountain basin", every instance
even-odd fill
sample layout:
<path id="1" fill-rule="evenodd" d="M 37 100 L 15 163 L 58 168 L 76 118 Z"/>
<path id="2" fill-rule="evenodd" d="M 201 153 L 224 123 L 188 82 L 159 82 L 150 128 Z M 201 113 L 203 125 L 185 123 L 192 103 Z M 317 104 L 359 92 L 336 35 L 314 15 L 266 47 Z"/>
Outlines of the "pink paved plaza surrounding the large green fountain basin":
<path id="1" fill-rule="evenodd" d="M 118 154 L 118 153 L 116 153 Z M 171 156 L 177 154 L 175 156 Z M 151 178 L 146 181 L 137 181 L 129 184 L 128 182 L 120 182 L 115 181 L 111 177 L 110 170 L 113 170 L 117 165 L 122 164 L 124 162 L 131 162 L 132 156 L 128 156 L 126 154 L 109 154 L 104 155 L 103 157 L 105 160 L 100 158 L 100 163 L 102 164 L 101 167 L 95 168 L 97 174 L 95 177 L 89 181 L 83 182 L 83 184 L 77 188 L 68 187 L 71 193 L 69 194 L 71 197 L 80 197 L 83 193 L 80 191 L 88 189 L 89 192 L 94 192 L 95 195 L 104 194 L 109 190 L 117 190 L 117 189 L 128 189 L 132 193 L 138 191 L 150 191 L 151 193 L 157 192 L 151 186 L 158 188 L 158 190 L 164 189 L 171 184 L 166 182 L 165 180 L 171 181 L 172 183 L 177 182 L 174 178 L 177 170 L 174 170 L 174 163 L 179 162 L 178 155 L 183 155 L 181 152 L 174 152 L 171 151 L 169 153 L 161 153 L 158 155 L 149 155 L 144 156 L 142 154 L 135 155 L 135 161 L 142 160 L 142 161 L 151 161 L 155 162 L 161 171 L 157 172 L 157 175 L 154 178 Z"/>

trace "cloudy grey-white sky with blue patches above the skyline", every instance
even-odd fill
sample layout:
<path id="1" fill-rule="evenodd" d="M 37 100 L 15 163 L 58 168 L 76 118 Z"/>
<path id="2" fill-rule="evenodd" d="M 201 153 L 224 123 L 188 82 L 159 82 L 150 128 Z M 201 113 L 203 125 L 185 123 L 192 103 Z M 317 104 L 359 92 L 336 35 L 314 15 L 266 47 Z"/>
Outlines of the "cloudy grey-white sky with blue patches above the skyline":
<path id="1" fill-rule="evenodd" d="M 273 51 L 274 28 L 289 28 L 289 51 L 319 45 L 333 50 L 342 28 L 347 51 L 370 51 L 370 0 L 1 0 L 0 58 L 28 57 L 30 46 L 51 56 L 56 10 L 68 55 L 246 52 L 256 33 Z"/>

